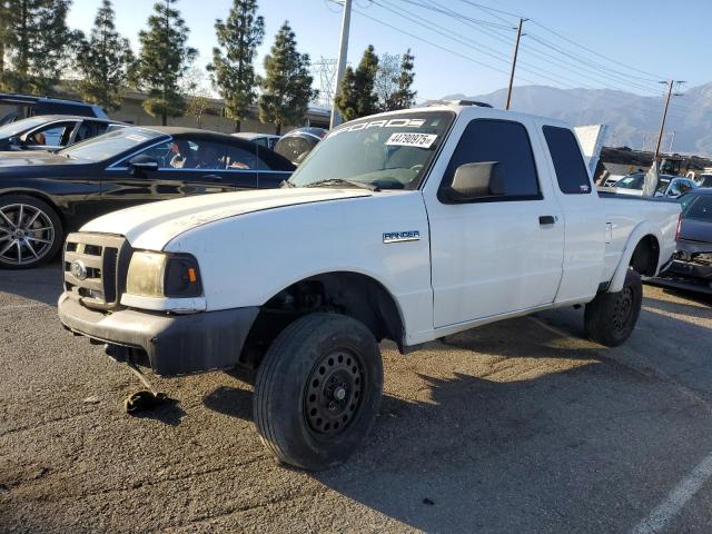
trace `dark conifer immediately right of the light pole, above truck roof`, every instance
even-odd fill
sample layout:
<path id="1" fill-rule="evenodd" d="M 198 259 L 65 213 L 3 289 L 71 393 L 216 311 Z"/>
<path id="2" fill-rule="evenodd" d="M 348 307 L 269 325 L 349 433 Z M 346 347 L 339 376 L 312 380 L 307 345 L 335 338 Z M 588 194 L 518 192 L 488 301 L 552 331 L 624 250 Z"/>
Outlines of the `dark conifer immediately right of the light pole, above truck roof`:
<path id="1" fill-rule="evenodd" d="M 368 44 L 356 70 L 348 67 L 342 81 L 342 90 L 334 102 L 344 120 L 358 119 L 377 113 L 378 95 L 375 90 L 378 73 L 378 56 Z"/>

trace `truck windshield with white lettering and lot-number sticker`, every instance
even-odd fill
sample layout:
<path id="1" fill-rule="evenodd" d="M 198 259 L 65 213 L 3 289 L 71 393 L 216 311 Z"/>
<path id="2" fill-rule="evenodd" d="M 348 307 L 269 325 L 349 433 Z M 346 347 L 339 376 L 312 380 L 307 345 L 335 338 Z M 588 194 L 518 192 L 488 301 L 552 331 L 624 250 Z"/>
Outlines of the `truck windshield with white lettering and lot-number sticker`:
<path id="1" fill-rule="evenodd" d="M 454 117 L 414 111 L 348 122 L 316 146 L 289 184 L 348 187 L 344 184 L 350 181 L 377 189 L 416 189 Z"/>

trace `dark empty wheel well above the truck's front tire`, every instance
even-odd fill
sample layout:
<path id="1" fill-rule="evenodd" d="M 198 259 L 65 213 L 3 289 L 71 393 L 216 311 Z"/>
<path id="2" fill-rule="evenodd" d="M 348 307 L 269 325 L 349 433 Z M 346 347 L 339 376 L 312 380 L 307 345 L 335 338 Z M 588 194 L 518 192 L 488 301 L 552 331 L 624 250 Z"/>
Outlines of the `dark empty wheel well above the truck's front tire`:
<path id="1" fill-rule="evenodd" d="M 327 273 L 290 285 L 260 307 L 245 342 L 240 363 L 257 367 L 281 330 L 315 312 L 354 317 L 366 325 L 376 340 L 392 339 L 403 352 L 403 319 L 386 288 L 357 273 Z"/>

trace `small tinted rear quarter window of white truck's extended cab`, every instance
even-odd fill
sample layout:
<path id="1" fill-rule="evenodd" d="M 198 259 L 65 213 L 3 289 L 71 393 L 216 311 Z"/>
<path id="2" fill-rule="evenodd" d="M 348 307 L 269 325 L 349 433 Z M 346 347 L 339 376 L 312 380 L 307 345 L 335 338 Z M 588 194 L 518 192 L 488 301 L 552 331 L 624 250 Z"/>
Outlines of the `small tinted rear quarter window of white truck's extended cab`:
<path id="1" fill-rule="evenodd" d="M 591 192 L 589 171 L 573 131 L 555 126 L 545 126 L 543 130 L 561 191 L 565 195 Z"/>

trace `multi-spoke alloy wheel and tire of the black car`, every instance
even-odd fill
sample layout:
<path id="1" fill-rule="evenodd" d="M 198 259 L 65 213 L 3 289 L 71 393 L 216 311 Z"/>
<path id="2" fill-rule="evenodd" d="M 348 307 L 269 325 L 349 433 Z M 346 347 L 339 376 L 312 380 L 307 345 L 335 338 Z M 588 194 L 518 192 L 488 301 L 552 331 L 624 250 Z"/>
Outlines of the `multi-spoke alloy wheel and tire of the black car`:
<path id="1" fill-rule="evenodd" d="M 47 202 L 27 195 L 0 197 L 0 267 L 31 269 L 62 245 L 62 224 Z"/>

